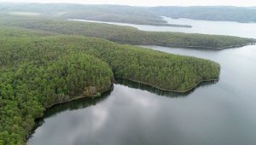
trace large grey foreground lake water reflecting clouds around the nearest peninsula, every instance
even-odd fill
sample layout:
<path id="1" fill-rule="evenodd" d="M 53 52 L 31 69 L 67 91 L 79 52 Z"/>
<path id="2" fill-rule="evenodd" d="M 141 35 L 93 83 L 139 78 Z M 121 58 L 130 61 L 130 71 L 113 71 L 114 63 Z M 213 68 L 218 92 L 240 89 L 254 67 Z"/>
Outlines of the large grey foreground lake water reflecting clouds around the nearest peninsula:
<path id="1" fill-rule="evenodd" d="M 247 25 L 253 30 L 254 24 Z M 222 25 L 218 27 L 222 31 Z M 245 31 L 244 35 L 249 34 Z M 217 61 L 220 80 L 186 94 L 118 80 L 102 98 L 48 109 L 27 144 L 255 144 L 256 46 L 224 50 L 143 47 Z"/>

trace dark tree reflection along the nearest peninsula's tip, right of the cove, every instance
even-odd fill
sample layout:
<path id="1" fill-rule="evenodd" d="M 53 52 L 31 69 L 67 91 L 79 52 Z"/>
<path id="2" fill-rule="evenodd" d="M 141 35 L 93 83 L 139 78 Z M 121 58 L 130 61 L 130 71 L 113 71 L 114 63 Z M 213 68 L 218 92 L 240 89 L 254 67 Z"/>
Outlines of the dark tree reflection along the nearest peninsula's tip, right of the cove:
<path id="1" fill-rule="evenodd" d="M 171 91 L 166 91 L 166 90 L 159 90 L 159 89 L 156 89 L 152 86 L 132 82 L 130 80 L 125 80 L 125 79 L 121 79 L 121 78 L 116 78 L 115 79 L 115 84 L 122 84 L 122 85 L 125 85 L 125 86 L 127 86 L 129 88 L 133 88 L 133 89 L 147 90 L 150 93 L 154 93 L 154 94 L 159 95 L 159 96 L 167 96 L 167 97 L 189 96 L 189 94 L 194 92 L 195 89 L 197 89 L 199 87 L 206 87 L 208 85 L 216 84 L 217 82 L 218 81 L 203 82 L 203 83 L 199 84 L 198 86 L 196 86 L 193 90 L 189 90 L 186 93 L 176 93 L 176 92 L 171 92 Z"/>

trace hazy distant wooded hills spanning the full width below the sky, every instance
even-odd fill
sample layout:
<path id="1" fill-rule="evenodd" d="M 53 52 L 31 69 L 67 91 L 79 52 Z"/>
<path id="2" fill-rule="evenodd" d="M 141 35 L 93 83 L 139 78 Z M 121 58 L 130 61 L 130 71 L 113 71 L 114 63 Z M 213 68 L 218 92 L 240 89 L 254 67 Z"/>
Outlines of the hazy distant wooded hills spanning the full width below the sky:
<path id="1" fill-rule="evenodd" d="M 161 16 L 194 20 L 256 22 L 256 8 L 227 6 L 134 7 L 125 5 L 84 5 L 55 3 L 1 3 L 5 14 L 40 14 L 65 19 L 123 22 L 152 26 L 185 26 L 167 24 Z"/>

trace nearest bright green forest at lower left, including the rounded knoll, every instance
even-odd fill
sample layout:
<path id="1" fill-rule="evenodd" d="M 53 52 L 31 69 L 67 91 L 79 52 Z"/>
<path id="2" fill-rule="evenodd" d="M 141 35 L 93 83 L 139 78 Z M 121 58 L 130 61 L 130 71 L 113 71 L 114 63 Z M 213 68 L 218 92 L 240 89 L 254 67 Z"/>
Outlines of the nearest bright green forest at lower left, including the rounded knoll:
<path id="1" fill-rule="evenodd" d="M 108 64 L 90 55 L 70 54 L 48 64 L 24 61 L 1 70 L 0 144 L 25 144 L 45 108 L 79 96 L 100 96 L 113 81 Z"/>

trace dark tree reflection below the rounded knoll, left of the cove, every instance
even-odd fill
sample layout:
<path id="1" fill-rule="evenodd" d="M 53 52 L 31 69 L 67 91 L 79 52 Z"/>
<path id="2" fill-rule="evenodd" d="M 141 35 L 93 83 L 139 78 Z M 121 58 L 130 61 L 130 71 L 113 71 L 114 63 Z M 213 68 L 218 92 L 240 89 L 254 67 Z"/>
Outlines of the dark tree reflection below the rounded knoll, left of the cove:
<path id="1" fill-rule="evenodd" d="M 105 93 L 102 93 L 102 96 L 100 97 L 96 97 L 96 98 L 81 98 L 79 100 L 74 100 L 72 102 L 64 102 L 58 105 L 55 105 L 53 107 L 50 107 L 49 109 L 47 109 L 44 112 L 44 117 L 40 118 L 40 119 L 36 119 L 36 125 L 34 126 L 33 131 L 29 134 L 28 138 L 32 137 L 32 134 L 35 132 L 35 130 L 44 124 L 44 119 L 50 118 L 58 113 L 61 113 L 63 111 L 67 111 L 67 110 L 78 110 L 78 109 L 82 109 L 85 107 L 90 107 L 90 106 L 94 106 L 99 102 L 102 102 L 103 100 L 105 100 L 110 93 L 112 92 L 113 87 L 111 88 L 111 90 L 108 90 Z"/>

